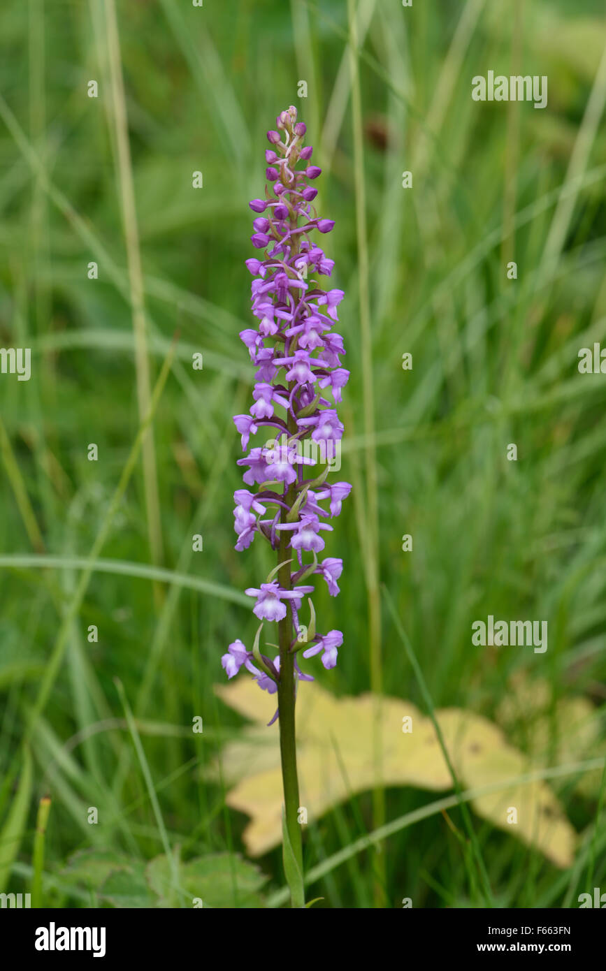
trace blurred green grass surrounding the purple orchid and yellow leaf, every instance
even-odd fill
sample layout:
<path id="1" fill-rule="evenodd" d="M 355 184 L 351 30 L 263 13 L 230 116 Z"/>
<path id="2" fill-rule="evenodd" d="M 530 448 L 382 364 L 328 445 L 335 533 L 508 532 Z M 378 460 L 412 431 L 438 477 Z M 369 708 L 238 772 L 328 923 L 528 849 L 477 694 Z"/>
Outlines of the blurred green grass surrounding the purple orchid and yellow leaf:
<path id="1" fill-rule="evenodd" d="M 25 892 L 41 873 L 46 793 L 48 906 L 152 906 L 143 868 L 176 846 L 225 868 L 215 906 L 271 906 L 284 884 L 279 849 L 256 861 L 262 889 L 243 863 L 247 818 L 225 808 L 214 766 L 245 721 L 213 686 L 226 646 L 253 640 L 242 591 L 274 565 L 260 545 L 233 549 L 231 416 L 248 410 L 253 380 L 238 337 L 252 325 L 248 201 L 263 191 L 265 132 L 289 104 L 323 170 L 319 211 L 336 220 L 324 248 L 330 284 L 346 291 L 352 372 L 339 478 L 354 492 L 327 543 L 345 562 L 342 592 L 315 598 L 320 629 L 345 641 L 338 667 L 313 673 L 337 695 L 382 685 L 427 712 L 387 587 L 433 705 L 500 724 L 533 766 L 604 752 L 606 379 L 577 368 L 581 348 L 606 340 L 603 5 L 349 6 L 353 57 L 348 4 L 336 0 L 3 5 L 0 345 L 31 348 L 32 376 L 0 375 L 0 890 Z M 474 102 L 471 79 L 488 70 L 547 75 L 548 107 Z M 120 491 L 176 330 L 152 439 Z M 102 562 L 88 577 L 91 550 Z M 549 650 L 473 648 L 471 623 L 488 614 L 547 619 Z M 551 729 L 537 752 L 544 688 Z M 504 702 L 521 691 L 508 721 Z M 573 730 L 574 699 L 585 704 Z M 192 735 L 196 715 L 204 732 Z M 329 867 L 310 894 L 333 908 L 404 896 L 415 907 L 577 906 L 579 893 L 606 889 L 601 776 L 580 787 L 582 777 L 553 783 L 579 834 L 569 868 L 472 814 L 487 897 L 455 808 L 391 836 L 379 867 L 374 851 Z M 306 868 L 432 798 L 354 795 L 308 827 Z M 90 848 L 98 855 L 67 863 Z M 238 866 L 258 892 L 244 904 Z M 118 889 L 103 896 L 108 875 Z"/>

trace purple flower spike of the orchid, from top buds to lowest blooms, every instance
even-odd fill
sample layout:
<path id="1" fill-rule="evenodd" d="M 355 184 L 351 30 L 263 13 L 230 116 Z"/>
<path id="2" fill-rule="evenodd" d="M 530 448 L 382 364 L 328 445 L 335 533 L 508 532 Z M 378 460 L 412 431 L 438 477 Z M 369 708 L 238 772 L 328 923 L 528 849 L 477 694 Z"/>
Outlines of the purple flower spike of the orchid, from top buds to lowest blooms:
<path id="1" fill-rule="evenodd" d="M 240 337 L 256 374 L 249 414 L 234 417 L 243 451 L 252 435 L 266 435 L 264 445 L 238 460 L 249 487 L 234 493 L 236 550 L 248 549 L 258 534 L 278 552 L 279 564 L 265 583 L 246 590 L 261 620 L 253 650 L 237 640 L 221 658 L 228 678 L 245 666 L 272 694 L 280 681 L 281 657 L 270 659 L 259 651 L 265 620 L 288 624 L 287 651 L 302 651 L 305 658 L 321 653 L 325 668 L 336 664 L 341 631 L 316 632 L 311 600 L 307 626 L 300 624 L 299 611 L 316 577 L 332 596 L 339 592 L 343 561 L 319 559 L 319 554 L 333 528 L 325 520 L 339 516 L 352 488 L 328 482 L 331 468 L 340 467 L 335 458 L 343 424 L 336 406 L 350 376 L 341 366 L 343 338 L 333 329 L 344 293 L 325 289 L 318 280 L 330 277 L 334 262 L 313 237 L 329 233 L 334 222 L 319 218 L 314 207 L 318 189 L 312 183 L 320 168 L 310 164 L 313 149 L 304 146 L 306 127 L 296 116 L 296 108 L 288 108 L 277 118 L 277 130 L 268 131 L 265 198 L 250 203 L 255 215 L 251 239 L 259 253 L 246 265 L 254 278 L 258 323 Z M 319 464 L 321 471 L 315 468 Z M 281 652 L 284 643 L 281 638 Z M 301 680 L 313 681 L 296 657 L 294 669 Z"/>

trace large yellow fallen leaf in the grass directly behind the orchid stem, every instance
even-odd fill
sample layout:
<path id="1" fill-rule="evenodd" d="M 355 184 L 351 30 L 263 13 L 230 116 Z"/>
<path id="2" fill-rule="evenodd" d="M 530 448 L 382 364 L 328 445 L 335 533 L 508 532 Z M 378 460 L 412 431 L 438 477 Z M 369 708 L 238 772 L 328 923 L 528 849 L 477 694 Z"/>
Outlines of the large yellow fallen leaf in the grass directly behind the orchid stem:
<path id="1" fill-rule="evenodd" d="M 244 841 L 253 856 L 282 839 L 282 775 L 273 698 L 247 679 L 216 686 L 231 708 L 257 722 L 222 754 L 227 805 L 252 818 Z M 403 731 L 405 719 L 412 731 Z M 436 712 L 462 788 L 499 784 L 534 768 L 487 719 L 462 709 Z M 262 726 L 262 727 L 261 727 Z M 320 818 L 351 795 L 382 783 L 430 790 L 453 788 L 433 723 L 409 701 L 370 694 L 335 698 L 317 684 L 297 698 L 297 760 L 301 806 L 308 820 Z M 514 785 L 472 800 L 479 816 L 544 853 L 556 866 L 572 862 L 575 831 L 545 783 Z M 510 822 L 516 810 L 517 822 Z"/>

